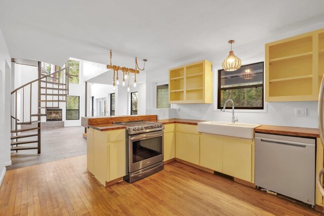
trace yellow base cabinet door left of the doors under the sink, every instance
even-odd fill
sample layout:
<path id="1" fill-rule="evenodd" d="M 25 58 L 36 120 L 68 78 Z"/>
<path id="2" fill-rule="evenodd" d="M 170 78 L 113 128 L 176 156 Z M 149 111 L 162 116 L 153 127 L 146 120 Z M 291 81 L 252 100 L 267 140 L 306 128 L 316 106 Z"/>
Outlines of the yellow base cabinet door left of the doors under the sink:
<path id="1" fill-rule="evenodd" d="M 199 165 L 199 135 L 176 133 L 176 158 Z"/>

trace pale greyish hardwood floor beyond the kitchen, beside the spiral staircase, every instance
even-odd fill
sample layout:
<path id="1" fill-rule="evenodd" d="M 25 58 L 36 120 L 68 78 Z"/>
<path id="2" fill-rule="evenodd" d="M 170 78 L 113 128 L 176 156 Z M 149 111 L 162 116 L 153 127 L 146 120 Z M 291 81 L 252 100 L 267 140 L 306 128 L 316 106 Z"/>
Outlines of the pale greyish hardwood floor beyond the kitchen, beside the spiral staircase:
<path id="1" fill-rule="evenodd" d="M 12 165 L 7 166 L 7 170 L 87 154 L 87 140 L 82 137 L 84 130 L 82 126 L 42 129 L 42 153 L 37 154 L 37 150 L 13 152 L 11 153 Z M 21 141 L 34 139 L 31 137 Z M 25 146 L 35 146 L 35 144 Z"/>

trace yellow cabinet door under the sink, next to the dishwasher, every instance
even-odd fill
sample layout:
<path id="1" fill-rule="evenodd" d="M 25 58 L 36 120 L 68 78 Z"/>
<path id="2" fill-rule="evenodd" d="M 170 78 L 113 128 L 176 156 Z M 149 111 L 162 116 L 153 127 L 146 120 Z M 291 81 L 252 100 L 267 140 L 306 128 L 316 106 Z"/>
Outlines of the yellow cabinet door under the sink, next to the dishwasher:
<path id="1" fill-rule="evenodd" d="M 252 182 L 252 145 L 224 140 L 223 173 Z"/>

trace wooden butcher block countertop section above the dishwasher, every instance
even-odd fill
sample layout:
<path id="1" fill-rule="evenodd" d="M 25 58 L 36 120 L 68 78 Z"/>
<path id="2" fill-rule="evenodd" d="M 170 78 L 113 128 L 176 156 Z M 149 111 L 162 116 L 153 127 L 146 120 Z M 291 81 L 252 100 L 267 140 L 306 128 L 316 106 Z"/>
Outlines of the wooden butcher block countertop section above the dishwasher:
<path id="1" fill-rule="evenodd" d="M 266 134 L 289 135 L 296 137 L 319 137 L 317 128 L 307 127 L 261 125 L 255 128 L 254 131 Z"/>

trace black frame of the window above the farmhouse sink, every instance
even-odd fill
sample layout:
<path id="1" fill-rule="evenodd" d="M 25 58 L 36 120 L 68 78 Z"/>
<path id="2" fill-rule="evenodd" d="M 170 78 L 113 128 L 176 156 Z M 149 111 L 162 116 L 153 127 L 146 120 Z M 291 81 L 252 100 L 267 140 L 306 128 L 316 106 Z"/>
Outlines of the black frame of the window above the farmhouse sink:
<path id="1" fill-rule="evenodd" d="M 222 90 L 250 89 L 250 88 L 262 87 L 262 107 L 235 107 L 235 109 L 240 109 L 240 110 L 264 110 L 264 61 L 242 65 L 241 67 L 254 65 L 254 64 L 260 64 L 260 63 L 262 63 L 262 69 L 263 69 L 263 73 L 262 73 L 262 80 L 263 81 L 262 81 L 262 84 L 244 85 L 244 86 L 240 86 L 240 87 L 221 88 L 221 71 L 224 70 L 224 69 L 219 69 L 218 70 L 218 74 L 217 74 L 218 75 L 217 109 L 223 109 L 222 105 L 220 104 L 220 102 L 221 102 L 221 91 Z M 232 109 L 232 108 L 231 107 L 225 107 L 225 109 Z"/>

